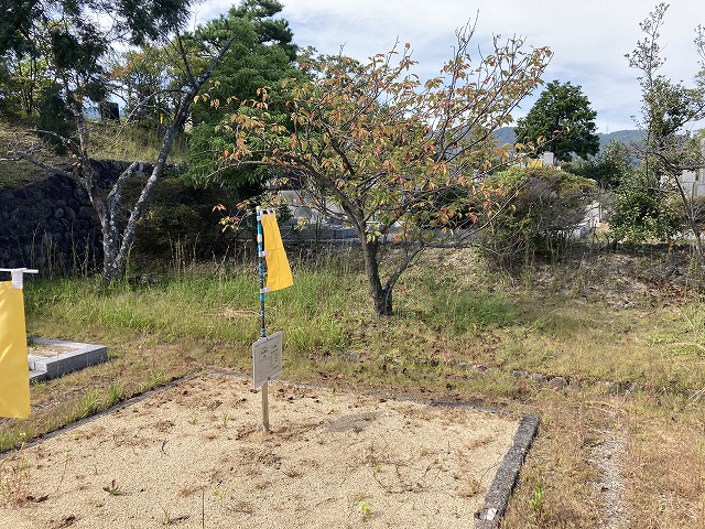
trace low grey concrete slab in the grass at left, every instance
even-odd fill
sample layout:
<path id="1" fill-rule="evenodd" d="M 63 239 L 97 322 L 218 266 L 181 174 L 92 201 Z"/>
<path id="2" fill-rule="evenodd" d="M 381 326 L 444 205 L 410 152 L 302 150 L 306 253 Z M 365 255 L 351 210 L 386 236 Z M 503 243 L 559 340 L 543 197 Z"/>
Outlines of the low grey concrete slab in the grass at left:
<path id="1" fill-rule="evenodd" d="M 54 347 L 56 353 L 40 354 L 40 347 L 36 354 L 28 355 L 31 382 L 57 378 L 108 359 L 108 348 L 105 345 L 50 338 L 34 338 L 33 343 L 45 346 L 50 352 Z"/>

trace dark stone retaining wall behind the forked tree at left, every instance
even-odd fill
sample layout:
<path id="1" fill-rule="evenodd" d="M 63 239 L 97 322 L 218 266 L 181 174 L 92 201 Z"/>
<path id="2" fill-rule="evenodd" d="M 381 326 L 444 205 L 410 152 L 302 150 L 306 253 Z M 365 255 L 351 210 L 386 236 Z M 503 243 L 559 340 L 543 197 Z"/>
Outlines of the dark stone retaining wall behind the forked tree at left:
<path id="1" fill-rule="evenodd" d="M 127 168 L 124 162 L 97 163 L 104 188 Z M 99 268 L 101 259 L 100 224 L 87 192 L 72 179 L 52 174 L 0 190 L 0 268 L 72 274 Z"/>

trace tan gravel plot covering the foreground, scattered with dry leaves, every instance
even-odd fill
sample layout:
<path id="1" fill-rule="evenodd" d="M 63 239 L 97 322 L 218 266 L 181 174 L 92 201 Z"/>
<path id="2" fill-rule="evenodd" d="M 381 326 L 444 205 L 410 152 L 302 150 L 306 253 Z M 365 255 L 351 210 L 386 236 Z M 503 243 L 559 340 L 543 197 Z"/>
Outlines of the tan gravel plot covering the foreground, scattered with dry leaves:
<path id="1" fill-rule="evenodd" d="M 473 527 L 518 419 L 203 375 L 0 460 L 0 528 Z"/>

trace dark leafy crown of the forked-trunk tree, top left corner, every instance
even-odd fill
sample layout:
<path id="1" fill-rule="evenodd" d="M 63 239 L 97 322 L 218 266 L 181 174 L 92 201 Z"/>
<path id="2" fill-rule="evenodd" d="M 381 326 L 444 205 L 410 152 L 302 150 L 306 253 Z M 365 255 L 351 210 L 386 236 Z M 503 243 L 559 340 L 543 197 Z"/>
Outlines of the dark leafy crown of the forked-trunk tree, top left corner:
<path id="1" fill-rule="evenodd" d="M 25 79 L 20 93 L 24 114 L 31 116 L 33 96 L 42 88 L 36 85 L 55 79 L 65 106 L 79 112 L 88 99 L 106 97 L 104 60 L 115 47 L 165 36 L 187 20 L 188 7 L 189 0 L 9 0 L 0 20 L 0 60 L 12 65 L 13 80 L 0 84 L 13 91 L 9 85 Z"/>

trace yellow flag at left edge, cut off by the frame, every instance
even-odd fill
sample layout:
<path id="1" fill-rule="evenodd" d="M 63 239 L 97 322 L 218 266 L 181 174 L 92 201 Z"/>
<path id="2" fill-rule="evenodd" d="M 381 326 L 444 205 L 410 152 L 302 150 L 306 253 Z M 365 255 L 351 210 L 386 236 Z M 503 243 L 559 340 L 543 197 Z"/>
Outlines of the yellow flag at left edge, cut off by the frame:
<path id="1" fill-rule="evenodd" d="M 0 417 L 30 417 L 24 299 L 12 281 L 0 282 Z"/>

